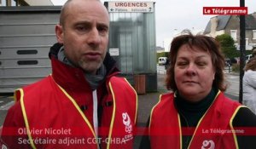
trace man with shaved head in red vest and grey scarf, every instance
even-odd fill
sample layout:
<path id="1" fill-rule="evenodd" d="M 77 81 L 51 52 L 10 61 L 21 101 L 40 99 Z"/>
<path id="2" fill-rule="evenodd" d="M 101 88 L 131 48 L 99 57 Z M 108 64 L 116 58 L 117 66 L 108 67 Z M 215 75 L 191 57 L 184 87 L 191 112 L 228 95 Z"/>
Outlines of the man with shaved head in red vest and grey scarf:
<path id="1" fill-rule="evenodd" d="M 15 91 L 2 148 L 132 148 L 137 94 L 107 53 L 108 11 L 68 0 L 49 51 L 52 74 Z"/>

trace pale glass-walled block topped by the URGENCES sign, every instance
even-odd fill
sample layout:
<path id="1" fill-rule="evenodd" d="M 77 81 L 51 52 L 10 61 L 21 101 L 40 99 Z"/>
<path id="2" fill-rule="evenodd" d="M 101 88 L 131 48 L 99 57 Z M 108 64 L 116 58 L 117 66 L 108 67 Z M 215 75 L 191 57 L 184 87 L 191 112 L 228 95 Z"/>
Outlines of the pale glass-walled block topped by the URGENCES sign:
<path id="1" fill-rule="evenodd" d="M 144 75 L 146 91 L 157 90 L 154 2 L 105 2 L 110 16 L 110 54 L 122 74 L 136 85 Z"/>

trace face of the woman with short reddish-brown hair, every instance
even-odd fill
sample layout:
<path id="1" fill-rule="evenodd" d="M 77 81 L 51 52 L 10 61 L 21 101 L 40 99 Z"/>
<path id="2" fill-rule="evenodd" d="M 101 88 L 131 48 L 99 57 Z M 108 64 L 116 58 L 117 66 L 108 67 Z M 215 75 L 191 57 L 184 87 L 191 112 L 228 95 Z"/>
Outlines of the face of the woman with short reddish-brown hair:
<path id="1" fill-rule="evenodd" d="M 178 49 L 174 79 L 179 94 L 190 101 L 199 101 L 212 89 L 215 71 L 211 55 L 206 51 L 184 44 Z"/>

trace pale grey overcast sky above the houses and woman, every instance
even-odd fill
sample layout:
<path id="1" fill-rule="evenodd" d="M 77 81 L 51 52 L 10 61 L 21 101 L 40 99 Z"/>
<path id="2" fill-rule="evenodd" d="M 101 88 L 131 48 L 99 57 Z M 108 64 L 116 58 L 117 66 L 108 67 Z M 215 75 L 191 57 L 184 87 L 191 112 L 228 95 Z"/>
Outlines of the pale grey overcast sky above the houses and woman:
<path id="1" fill-rule="evenodd" d="M 51 0 L 62 5 L 66 0 Z M 101 0 L 102 3 L 105 2 Z M 119 1 L 119 0 L 109 0 Z M 124 0 L 122 0 L 124 1 Z M 132 0 L 128 0 L 132 1 Z M 137 0 L 152 1 L 152 0 Z M 156 44 L 163 46 L 166 38 L 183 29 L 204 30 L 214 15 L 204 15 L 203 7 L 239 7 L 240 0 L 155 0 Z M 248 14 L 256 12 L 256 0 L 245 0 Z"/>

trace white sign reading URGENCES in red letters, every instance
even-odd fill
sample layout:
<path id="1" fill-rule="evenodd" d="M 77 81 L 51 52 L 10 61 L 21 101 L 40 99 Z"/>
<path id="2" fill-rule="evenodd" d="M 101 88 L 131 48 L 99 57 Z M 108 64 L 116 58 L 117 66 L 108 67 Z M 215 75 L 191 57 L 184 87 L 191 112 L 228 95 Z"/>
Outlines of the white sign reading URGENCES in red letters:
<path id="1" fill-rule="evenodd" d="M 153 13 L 154 2 L 108 2 L 108 12 Z"/>

